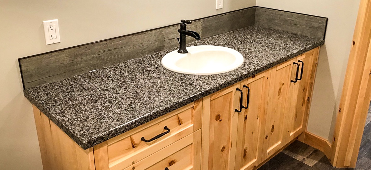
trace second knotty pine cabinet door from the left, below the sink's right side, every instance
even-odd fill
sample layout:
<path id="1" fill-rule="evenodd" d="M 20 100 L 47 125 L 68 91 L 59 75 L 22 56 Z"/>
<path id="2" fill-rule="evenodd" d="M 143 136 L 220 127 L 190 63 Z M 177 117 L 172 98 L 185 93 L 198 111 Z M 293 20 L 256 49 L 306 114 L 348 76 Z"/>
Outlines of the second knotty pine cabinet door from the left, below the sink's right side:
<path id="1" fill-rule="evenodd" d="M 247 98 L 249 102 L 238 117 L 235 170 L 251 170 L 262 163 L 269 75 L 270 70 L 242 81 L 244 106 Z"/>

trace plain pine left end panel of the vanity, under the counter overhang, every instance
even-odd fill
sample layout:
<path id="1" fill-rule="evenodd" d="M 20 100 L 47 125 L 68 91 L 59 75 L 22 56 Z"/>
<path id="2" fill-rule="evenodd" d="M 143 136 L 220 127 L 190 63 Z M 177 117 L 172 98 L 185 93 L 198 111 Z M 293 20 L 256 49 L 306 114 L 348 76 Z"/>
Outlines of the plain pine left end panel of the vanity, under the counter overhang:
<path id="1" fill-rule="evenodd" d="M 83 150 L 33 106 L 37 137 L 45 170 L 95 170 L 93 149 Z"/>

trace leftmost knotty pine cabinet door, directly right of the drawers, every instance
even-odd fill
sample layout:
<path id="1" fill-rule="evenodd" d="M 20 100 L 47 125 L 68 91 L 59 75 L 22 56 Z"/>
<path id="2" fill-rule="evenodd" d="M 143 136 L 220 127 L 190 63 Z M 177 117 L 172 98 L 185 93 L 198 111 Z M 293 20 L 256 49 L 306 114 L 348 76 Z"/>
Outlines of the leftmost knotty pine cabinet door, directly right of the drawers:
<path id="1" fill-rule="evenodd" d="M 240 83 L 203 98 L 202 170 L 231 170 L 236 156 Z"/>

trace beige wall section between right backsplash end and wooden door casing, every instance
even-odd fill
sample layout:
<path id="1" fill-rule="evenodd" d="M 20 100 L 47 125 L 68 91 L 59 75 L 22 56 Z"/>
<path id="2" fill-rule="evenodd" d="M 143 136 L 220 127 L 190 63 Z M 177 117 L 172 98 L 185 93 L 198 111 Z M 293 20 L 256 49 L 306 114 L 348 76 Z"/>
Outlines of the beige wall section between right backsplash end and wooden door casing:
<path id="1" fill-rule="evenodd" d="M 257 6 L 328 17 L 308 131 L 332 141 L 359 0 L 257 0 Z"/>

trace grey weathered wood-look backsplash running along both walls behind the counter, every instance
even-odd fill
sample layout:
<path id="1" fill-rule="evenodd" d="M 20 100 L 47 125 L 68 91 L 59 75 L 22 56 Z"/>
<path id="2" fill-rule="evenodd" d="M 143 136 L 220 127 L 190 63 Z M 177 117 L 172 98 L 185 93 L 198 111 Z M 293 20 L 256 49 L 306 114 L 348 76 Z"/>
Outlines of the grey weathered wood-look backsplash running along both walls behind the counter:
<path id="1" fill-rule="evenodd" d="M 275 21 L 273 18 L 277 19 Z M 290 20 L 288 18 L 294 18 Z M 284 22 L 284 24 L 282 24 Z M 281 23 L 281 24 L 280 24 Z M 316 38 L 324 38 L 327 18 L 260 7 L 194 20 L 187 29 L 208 38 L 257 24 Z M 270 25 L 272 24 L 272 25 Z M 24 89 L 108 67 L 129 59 L 177 47 L 179 24 L 19 58 Z M 188 38 L 191 43 L 193 38 Z"/>

